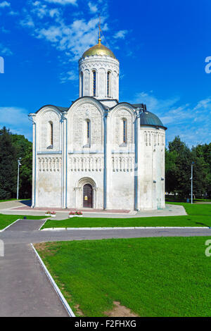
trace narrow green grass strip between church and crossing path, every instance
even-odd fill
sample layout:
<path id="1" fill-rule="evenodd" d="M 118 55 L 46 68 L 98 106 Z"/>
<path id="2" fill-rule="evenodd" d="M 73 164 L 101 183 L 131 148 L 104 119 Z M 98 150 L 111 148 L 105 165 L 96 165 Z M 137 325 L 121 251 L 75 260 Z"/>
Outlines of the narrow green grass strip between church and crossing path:
<path id="1" fill-rule="evenodd" d="M 173 204 L 173 203 L 172 203 Z M 174 203 L 184 206 L 188 216 L 158 216 L 141 218 L 68 218 L 67 220 L 47 220 L 42 229 L 48 227 L 153 227 L 190 226 L 211 227 L 210 204 Z"/>

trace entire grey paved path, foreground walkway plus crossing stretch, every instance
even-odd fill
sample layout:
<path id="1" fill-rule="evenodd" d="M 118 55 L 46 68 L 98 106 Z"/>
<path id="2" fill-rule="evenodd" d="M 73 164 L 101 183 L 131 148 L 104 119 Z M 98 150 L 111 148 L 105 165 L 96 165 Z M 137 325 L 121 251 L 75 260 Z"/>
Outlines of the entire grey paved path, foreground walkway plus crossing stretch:
<path id="1" fill-rule="evenodd" d="M 0 316 L 68 316 L 30 242 L 134 237 L 211 236 L 211 229 L 38 231 L 44 220 L 20 220 L 0 233 Z M 2 299 L 3 298 L 3 299 Z"/>

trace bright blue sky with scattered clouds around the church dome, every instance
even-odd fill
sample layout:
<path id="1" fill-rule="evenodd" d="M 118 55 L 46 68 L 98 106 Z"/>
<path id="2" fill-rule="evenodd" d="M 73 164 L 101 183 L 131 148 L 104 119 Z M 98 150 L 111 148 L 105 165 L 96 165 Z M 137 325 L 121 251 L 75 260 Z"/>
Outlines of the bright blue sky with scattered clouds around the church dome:
<path id="1" fill-rule="evenodd" d="M 209 0 L 0 0 L 0 127 L 32 139 L 27 118 L 78 98 L 78 59 L 102 42 L 120 60 L 120 101 L 146 103 L 189 146 L 210 143 Z"/>

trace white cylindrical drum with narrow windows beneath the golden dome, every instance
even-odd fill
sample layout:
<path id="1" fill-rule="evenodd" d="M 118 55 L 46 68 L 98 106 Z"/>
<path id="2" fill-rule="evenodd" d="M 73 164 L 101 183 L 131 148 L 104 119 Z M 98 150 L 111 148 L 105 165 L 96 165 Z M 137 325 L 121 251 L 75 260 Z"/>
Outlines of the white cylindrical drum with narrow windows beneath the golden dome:
<path id="1" fill-rule="evenodd" d="M 94 96 L 93 70 L 96 71 L 96 99 L 119 100 L 120 63 L 110 56 L 87 56 L 79 60 L 79 77 L 83 73 L 84 82 L 79 84 L 79 96 Z M 107 95 L 107 73 L 110 72 L 110 95 Z M 83 87 L 83 90 L 82 90 Z"/>

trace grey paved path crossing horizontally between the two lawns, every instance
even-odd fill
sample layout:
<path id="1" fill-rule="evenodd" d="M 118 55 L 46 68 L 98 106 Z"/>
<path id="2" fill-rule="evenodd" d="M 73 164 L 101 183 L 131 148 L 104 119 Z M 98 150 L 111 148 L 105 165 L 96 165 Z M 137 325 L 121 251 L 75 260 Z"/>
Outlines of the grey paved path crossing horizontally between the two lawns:
<path id="1" fill-rule="evenodd" d="M 24 222 L 24 228 L 23 228 Z M 28 230 L 34 224 L 34 230 Z M 141 238 L 141 237 L 194 237 L 211 236 L 211 229 L 185 228 L 185 229 L 117 229 L 117 230 L 52 230 L 38 231 L 43 221 L 20 220 L 4 232 L 0 232 L 0 239 L 6 244 L 30 244 L 31 242 L 56 242 L 84 239 L 109 239 L 109 238 Z M 37 227 L 36 227 L 37 224 Z M 21 230 L 22 229 L 22 230 Z M 1 279 L 1 278 L 0 278 Z"/>

